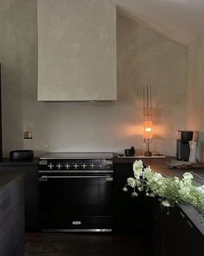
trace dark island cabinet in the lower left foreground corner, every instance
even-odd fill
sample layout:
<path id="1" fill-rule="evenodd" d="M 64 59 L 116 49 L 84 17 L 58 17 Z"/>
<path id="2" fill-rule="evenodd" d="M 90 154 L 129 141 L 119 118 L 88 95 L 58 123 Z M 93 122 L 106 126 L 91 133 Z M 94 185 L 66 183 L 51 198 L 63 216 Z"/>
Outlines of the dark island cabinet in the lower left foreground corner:
<path id="1" fill-rule="evenodd" d="M 0 173 L 0 255 L 24 255 L 24 177 Z"/>

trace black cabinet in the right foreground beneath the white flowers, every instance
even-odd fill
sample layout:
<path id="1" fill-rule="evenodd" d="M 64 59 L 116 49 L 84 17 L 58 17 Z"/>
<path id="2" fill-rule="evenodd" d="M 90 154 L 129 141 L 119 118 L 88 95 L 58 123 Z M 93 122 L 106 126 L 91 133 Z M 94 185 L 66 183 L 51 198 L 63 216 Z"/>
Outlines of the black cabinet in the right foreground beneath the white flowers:
<path id="1" fill-rule="evenodd" d="M 191 220 L 183 207 L 190 209 Z M 198 215 L 198 216 L 195 216 Z M 188 206 L 167 208 L 155 202 L 154 251 L 156 256 L 201 256 L 204 254 L 203 218 Z M 198 220 L 201 220 L 198 223 Z M 196 226 L 196 222 L 198 226 Z"/>

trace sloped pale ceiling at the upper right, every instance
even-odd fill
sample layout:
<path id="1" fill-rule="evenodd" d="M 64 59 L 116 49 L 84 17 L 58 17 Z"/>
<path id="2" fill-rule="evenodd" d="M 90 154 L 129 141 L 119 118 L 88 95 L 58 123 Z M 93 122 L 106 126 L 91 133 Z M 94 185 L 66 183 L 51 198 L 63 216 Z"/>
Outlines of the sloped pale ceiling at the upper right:
<path id="1" fill-rule="evenodd" d="M 204 34 L 204 0 L 116 0 L 118 10 L 183 43 Z"/>

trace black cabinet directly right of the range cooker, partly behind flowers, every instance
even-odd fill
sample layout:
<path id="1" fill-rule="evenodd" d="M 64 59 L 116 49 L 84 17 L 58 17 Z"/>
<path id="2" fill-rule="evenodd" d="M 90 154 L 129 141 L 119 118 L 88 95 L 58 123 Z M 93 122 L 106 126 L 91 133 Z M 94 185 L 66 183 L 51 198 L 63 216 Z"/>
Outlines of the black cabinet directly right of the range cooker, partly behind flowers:
<path id="1" fill-rule="evenodd" d="M 144 194 L 131 197 L 133 189 L 123 187 L 133 177 L 131 162 L 114 162 L 114 231 L 116 233 L 150 233 L 153 224 L 153 200 Z M 145 198 L 144 198 L 145 197 Z"/>

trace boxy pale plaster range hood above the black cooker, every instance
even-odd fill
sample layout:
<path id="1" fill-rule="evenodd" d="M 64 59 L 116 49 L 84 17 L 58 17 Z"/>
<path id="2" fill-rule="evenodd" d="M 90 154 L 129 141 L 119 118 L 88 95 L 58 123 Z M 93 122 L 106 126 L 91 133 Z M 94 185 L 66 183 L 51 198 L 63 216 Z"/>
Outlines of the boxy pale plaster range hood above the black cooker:
<path id="1" fill-rule="evenodd" d="M 38 101 L 117 99 L 116 5 L 38 0 Z"/>

